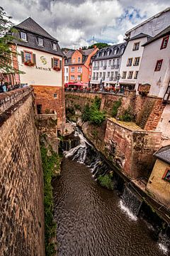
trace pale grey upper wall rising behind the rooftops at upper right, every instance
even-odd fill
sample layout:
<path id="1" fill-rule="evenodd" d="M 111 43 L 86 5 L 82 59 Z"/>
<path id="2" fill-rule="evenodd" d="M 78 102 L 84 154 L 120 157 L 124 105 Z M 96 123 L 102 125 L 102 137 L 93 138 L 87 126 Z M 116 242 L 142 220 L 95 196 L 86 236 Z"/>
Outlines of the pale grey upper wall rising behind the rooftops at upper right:
<path id="1" fill-rule="evenodd" d="M 145 33 L 149 36 L 156 36 L 158 33 L 164 30 L 169 26 L 170 21 L 170 11 L 162 13 L 161 16 L 155 17 L 152 21 L 149 21 L 139 28 L 136 28 L 130 33 L 130 38 L 137 36 L 139 33 Z"/>

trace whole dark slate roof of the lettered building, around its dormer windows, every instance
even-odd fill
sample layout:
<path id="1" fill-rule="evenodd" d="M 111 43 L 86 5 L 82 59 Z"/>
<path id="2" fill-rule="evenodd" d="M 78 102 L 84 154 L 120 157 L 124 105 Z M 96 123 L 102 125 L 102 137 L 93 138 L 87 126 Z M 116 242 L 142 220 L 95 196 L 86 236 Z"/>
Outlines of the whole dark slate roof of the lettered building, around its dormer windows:
<path id="1" fill-rule="evenodd" d="M 33 18 L 26 18 L 25 21 L 13 27 L 17 30 L 13 33 L 13 36 L 15 36 L 16 40 L 14 40 L 14 42 L 17 43 L 18 46 L 33 48 L 53 55 L 64 56 L 58 45 L 57 39 L 50 36 L 44 28 L 33 20 Z M 21 40 L 20 32 L 26 33 L 27 41 Z M 38 45 L 38 37 L 43 39 L 43 46 Z M 57 50 L 52 48 L 52 43 L 57 44 Z"/>

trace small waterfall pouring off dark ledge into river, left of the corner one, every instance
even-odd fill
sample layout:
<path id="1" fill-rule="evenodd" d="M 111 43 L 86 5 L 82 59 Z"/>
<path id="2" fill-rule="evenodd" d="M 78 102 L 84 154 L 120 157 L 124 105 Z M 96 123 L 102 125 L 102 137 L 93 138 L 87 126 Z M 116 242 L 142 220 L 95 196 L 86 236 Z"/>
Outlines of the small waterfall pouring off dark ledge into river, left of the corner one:
<path id="1" fill-rule="evenodd" d="M 137 220 L 142 201 L 132 193 L 128 186 L 125 186 L 122 199 L 120 200 L 120 208 L 127 213 L 132 220 Z"/>

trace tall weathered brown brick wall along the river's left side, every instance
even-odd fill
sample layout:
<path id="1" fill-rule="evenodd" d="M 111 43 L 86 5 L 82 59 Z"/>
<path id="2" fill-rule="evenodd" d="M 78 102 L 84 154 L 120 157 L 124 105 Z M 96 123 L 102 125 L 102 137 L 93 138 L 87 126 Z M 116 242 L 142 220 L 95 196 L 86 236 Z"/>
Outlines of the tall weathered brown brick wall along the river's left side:
<path id="1" fill-rule="evenodd" d="M 0 95 L 0 255 L 45 255 L 43 179 L 33 92 Z"/>

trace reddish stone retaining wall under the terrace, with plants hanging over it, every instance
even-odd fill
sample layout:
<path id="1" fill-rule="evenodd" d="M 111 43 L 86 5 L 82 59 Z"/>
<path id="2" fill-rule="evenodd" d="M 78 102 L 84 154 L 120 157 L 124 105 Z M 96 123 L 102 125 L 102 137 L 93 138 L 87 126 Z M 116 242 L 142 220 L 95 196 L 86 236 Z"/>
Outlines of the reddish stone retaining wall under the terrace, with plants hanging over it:
<path id="1" fill-rule="evenodd" d="M 79 105 L 83 110 L 84 105 L 92 104 L 95 97 L 101 98 L 101 110 L 111 116 L 113 105 L 116 101 L 121 100 L 122 105 L 118 111 L 118 118 L 128 110 L 135 117 L 136 124 L 142 129 L 148 122 L 150 114 L 155 106 L 155 102 L 159 102 L 156 97 L 147 97 L 143 95 L 136 95 L 135 91 L 125 91 L 125 95 L 101 94 L 101 93 L 77 93 L 65 92 L 66 107 L 75 107 Z M 159 122 L 157 118 L 157 124 Z M 155 119 L 156 121 L 156 119 Z"/>

